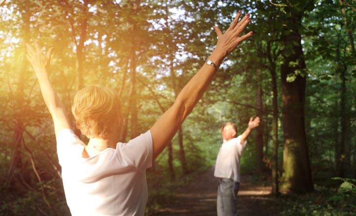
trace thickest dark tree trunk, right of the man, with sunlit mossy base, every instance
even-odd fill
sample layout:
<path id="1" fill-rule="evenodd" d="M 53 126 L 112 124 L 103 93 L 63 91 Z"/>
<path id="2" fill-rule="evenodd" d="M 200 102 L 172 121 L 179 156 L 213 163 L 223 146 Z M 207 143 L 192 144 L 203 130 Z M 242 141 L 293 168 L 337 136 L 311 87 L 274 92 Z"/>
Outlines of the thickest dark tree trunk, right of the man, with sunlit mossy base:
<path id="1" fill-rule="evenodd" d="M 298 26 L 301 17 L 291 18 L 293 24 L 282 35 L 285 49 L 282 50 L 281 89 L 283 125 L 283 175 L 281 188 L 285 192 L 305 193 L 313 190 L 311 167 L 305 133 L 305 88 L 306 78 L 297 74 L 293 82 L 287 82 L 290 73 L 305 72 L 306 66 Z"/>

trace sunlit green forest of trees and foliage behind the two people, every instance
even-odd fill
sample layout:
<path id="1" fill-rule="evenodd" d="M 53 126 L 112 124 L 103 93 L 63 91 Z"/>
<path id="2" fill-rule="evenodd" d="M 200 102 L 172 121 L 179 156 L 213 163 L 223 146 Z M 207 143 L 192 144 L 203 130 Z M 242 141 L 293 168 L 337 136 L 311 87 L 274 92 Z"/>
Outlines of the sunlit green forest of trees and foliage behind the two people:
<path id="1" fill-rule="evenodd" d="M 147 171 L 147 214 L 170 188 L 214 165 L 223 122 L 242 133 L 259 116 L 241 169 L 273 185 L 282 214 L 355 215 L 355 0 L 1 1 L 1 216 L 70 214 L 52 120 L 24 43 L 54 47 L 50 79 L 68 113 L 86 85 L 118 92 L 127 142 L 173 104 L 214 50 L 212 26 L 227 29 L 238 10 L 251 13 L 246 33 L 254 35 L 225 59 Z M 316 196 L 283 198 L 306 193 Z"/>

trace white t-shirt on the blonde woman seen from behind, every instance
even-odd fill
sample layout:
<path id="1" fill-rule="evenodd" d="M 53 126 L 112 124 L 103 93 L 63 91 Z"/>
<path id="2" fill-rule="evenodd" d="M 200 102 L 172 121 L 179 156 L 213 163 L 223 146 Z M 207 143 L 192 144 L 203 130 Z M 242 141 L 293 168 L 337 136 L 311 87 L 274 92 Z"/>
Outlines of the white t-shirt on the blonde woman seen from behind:
<path id="1" fill-rule="evenodd" d="M 84 146 L 71 129 L 59 132 L 57 152 L 72 215 L 143 216 L 146 168 L 152 166 L 151 132 L 90 158 L 82 158 Z"/>

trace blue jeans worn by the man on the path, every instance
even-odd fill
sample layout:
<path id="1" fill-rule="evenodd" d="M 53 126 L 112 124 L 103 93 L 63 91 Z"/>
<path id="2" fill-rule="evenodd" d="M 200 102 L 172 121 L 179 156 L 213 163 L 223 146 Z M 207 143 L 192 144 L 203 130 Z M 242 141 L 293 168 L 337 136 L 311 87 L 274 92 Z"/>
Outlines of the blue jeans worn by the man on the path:
<path id="1" fill-rule="evenodd" d="M 237 192 L 240 182 L 232 179 L 219 179 L 217 212 L 218 216 L 237 216 Z"/>

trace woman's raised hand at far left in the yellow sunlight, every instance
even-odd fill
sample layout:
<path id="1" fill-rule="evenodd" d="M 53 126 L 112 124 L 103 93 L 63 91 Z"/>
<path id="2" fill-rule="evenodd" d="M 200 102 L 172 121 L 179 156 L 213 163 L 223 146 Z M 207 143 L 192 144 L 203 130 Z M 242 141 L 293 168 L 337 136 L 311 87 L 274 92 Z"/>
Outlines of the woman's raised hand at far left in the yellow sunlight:
<path id="1" fill-rule="evenodd" d="M 33 49 L 29 44 L 26 43 L 26 49 L 26 58 L 31 63 L 35 72 L 37 73 L 46 70 L 46 68 L 51 62 L 53 47 L 48 50 L 46 55 L 42 53 L 38 43 L 35 43 L 35 49 Z"/>

